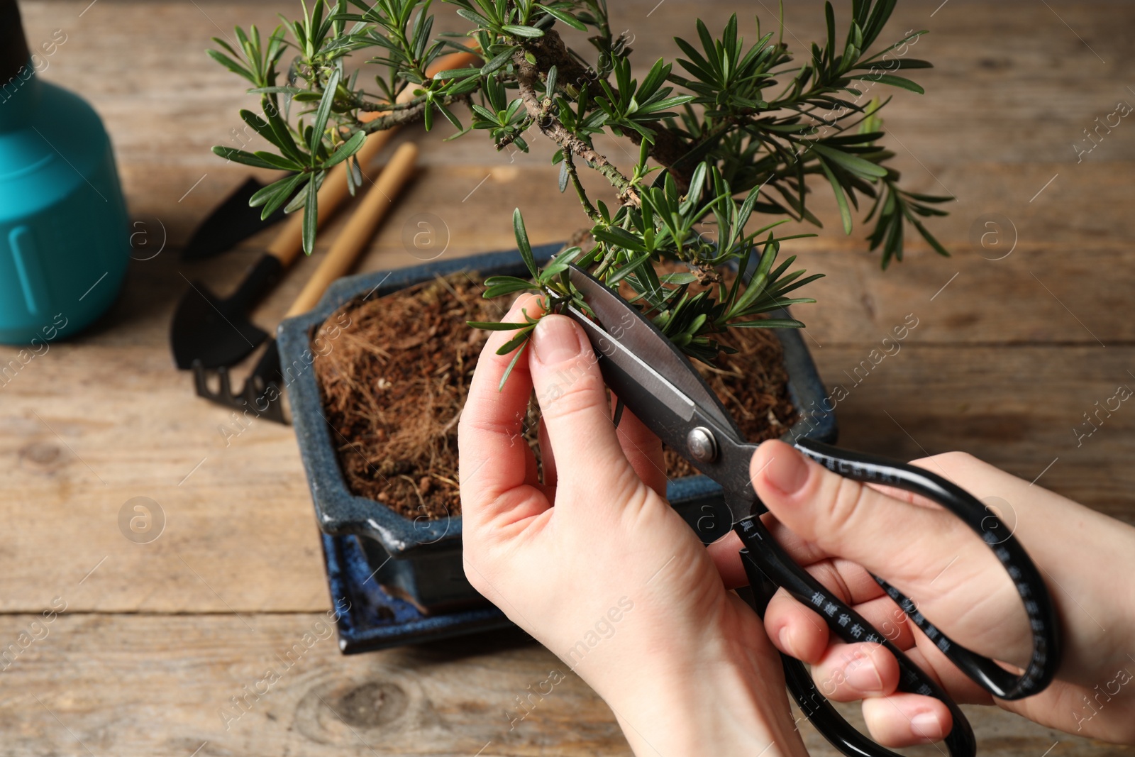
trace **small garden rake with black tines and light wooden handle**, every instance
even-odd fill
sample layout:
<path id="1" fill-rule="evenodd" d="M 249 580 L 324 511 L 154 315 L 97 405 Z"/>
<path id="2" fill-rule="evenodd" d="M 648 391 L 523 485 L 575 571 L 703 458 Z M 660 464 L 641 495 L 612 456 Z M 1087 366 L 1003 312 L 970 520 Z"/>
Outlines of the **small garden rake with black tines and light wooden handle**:
<path id="1" fill-rule="evenodd" d="M 359 208 L 355 209 L 354 215 L 351 216 L 347 225 L 335 239 L 327 256 L 323 258 L 284 318 L 292 318 L 314 308 L 327 287 L 354 266 L 355 260 L 367 249 L 368 242 L 394 203 L 393 199 L 401 194 L 403 186 L 413 177 L 417 161 L 417 145 L 412 142 L 405 142 L 398 146 L 390 158 L 390 162 L 379 174 L 375 185 L 367 191 Z M 230 348 L 235 351 L 238 346 L 236 340 L 239 337 L 235 336 L 235 330 L 233 335 L 226 336 Z M 286 422 L 281 404 L 283 386 L 286 382 L 280 372 L 280 359 L 275 338 L 269 339 L 263 355 L 257 362 L 257 367 L 239 392 L 233 390 L 227 364 L 222 363 L 216 367 L 218 381 L 216 392 L 209 386 L 208 368 L 210 367 L 207 367 L 202 361 L 193 361 L 192 367 L 193 382 L 199 396 L 226 407 L 250 412 L 258 418 L 279 423 Z"/>

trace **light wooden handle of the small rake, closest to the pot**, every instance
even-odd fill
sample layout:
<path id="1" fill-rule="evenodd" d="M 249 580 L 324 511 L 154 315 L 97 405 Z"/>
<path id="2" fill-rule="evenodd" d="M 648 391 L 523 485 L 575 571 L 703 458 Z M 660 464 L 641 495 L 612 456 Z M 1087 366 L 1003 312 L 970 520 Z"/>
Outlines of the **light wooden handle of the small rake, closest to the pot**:
<path id="1" fill-rule="evenodd" d="M 284 318 L 292 318 L 314 308 L 331 281 L 351 270 L 359 253 L 367 249 L 375 229 L 394 204 L 394 199 L 413 176 L 417 162 L 418 146 L 414 143 L 405 142 L 394 151 L 390 162 L 378 175 L 375 186 L 367 191 L 351 220 L 323 258 L 323 262 L 316 269 Z"/>

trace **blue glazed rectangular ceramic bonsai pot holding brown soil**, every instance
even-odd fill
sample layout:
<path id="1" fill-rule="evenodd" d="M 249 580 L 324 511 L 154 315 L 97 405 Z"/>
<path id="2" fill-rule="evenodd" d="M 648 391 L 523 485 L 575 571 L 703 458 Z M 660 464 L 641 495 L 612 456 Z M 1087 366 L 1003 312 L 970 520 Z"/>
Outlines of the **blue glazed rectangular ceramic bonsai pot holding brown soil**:
<path id="1" fill-rule="evenodd" d="M 561 245 L 533 250 L 546 260 Z M 438 261 L 394 271 L 376 271 L 336 281 L 319 305 L 284 321 L 278 340 L 284 382 L 308 483 L 320 529 L 333 536 L 359 537 L 361 554 L 373 565 L 373 579 L 407 599 L 426 615 L 476 612 L 485 599 L 465 580 L 461 564 L 461 518 L 426 520 L 406 518 L 389 507 L 347 489 L 336 457 L 329 424 L 323 418 L 312 362 L 312 335 L 339 306 L 356 297 L 381 297 L 405 287 L 461 270 L 480 276 L 527 276 L 514 250 L 457 260 Z M 784 435 L 785 440 L 808 437 L 835 440 L 835 417 L 823 410 L 826 394 L 800 334 L 777 329 L 784 350 L 789 394 L 801 409 L 801 418 Z M 721 489 L 704 476 L 670 481 L 672 506 L 690 523 L 703 541 L 709 542 L 730 528 L 729 511 Z M 344 649 L 346 645 L 344 644 Z"/>

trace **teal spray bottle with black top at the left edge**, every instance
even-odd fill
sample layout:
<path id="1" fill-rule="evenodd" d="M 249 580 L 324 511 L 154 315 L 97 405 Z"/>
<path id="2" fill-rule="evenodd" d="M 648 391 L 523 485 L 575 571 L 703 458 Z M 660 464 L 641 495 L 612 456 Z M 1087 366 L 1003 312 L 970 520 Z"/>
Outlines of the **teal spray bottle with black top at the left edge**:
<path id="1" fill-rule="evenodd" d="M 102 121 L 40 78 L 59 39 L 30 50 L 16 1 L 0 0 L 0 343 L 32 348 L 101 316 L 131 251 Z"/>

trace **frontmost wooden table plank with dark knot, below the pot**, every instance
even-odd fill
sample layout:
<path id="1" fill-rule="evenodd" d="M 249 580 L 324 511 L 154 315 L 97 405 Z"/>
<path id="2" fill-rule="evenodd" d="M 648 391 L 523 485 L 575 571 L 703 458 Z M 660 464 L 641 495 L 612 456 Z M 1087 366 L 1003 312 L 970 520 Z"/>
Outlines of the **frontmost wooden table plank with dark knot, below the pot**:
<path id="1" fill-rule="evenodd" d="M 36 617 L 0 619 L 0 639 L 16 638 Z M 232 614 L 62 615 L 3 672 L 5 754 L 630 755 L 606 705 L 516 632 L 343 657 L 325 621 L 259 615 L 250 630 Z M 286 656 L 294 645 L 303 654 Z M 259 683 L 269 670 L 279 678 L 270 687 Z M 564 680 L 529 699 L 530 714 L 513 722 L 518 697 L 552 671 Z M 241 709 L 233 697 L 244 701 Z M 983 755 L 1041 755 L 1058 741 L 1065 754 L 1128 754 L 1001 710 L 966 712 Z M 807 721 L 801 733 L 812 754 L 833 754 Z"/>

